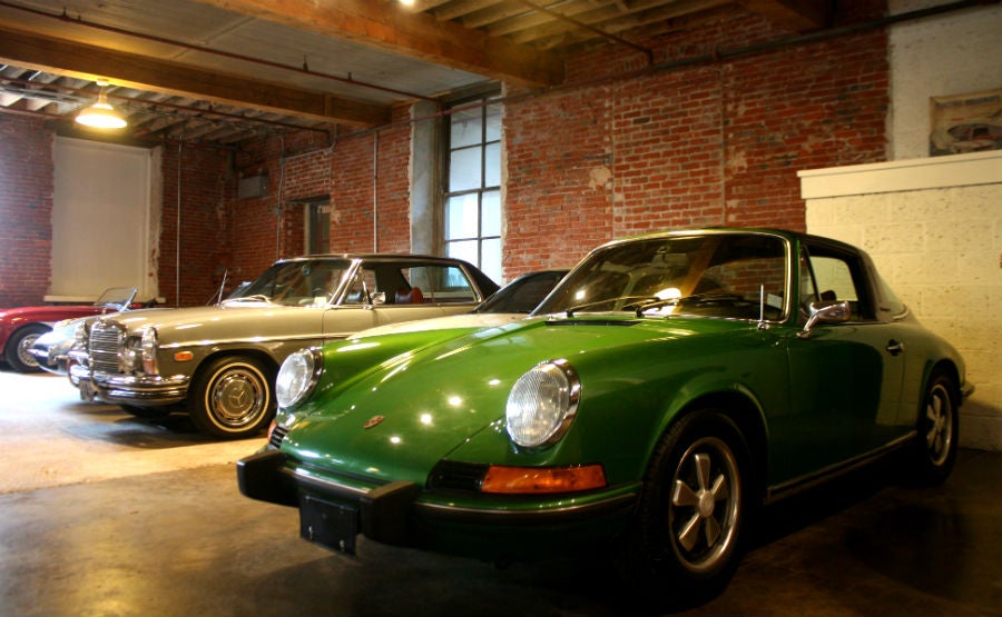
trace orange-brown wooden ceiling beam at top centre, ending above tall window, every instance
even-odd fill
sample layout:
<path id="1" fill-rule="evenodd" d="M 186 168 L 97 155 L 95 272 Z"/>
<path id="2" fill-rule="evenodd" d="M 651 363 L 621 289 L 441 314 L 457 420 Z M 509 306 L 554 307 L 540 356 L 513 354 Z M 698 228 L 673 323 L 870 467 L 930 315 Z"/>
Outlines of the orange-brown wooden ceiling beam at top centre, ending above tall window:
<path id="1" fill-rule="evenodd" d="M 556 86 L 564 77 L 557 53 L 411 11 L 397 0 L 197 1 L 502 81 Z"/>

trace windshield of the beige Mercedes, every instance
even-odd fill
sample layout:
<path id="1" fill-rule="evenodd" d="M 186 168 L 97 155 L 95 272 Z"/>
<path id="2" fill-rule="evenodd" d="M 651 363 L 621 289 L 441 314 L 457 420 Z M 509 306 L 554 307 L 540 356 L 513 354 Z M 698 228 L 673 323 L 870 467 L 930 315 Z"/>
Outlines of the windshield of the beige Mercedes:
<path id="1" fill-rule="evenodd" d="M 351 265 L 351 261 L 343 259 L 275 263 L 223 302 L 267 302 L 297 307 L 325 305 Z"/>

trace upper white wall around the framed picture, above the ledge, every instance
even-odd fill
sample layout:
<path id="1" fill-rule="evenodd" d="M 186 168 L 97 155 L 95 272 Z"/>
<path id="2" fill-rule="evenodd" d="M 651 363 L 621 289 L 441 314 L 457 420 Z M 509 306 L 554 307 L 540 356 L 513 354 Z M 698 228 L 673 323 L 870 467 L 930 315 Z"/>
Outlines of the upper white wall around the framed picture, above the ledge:
<path id="1" fill-rule="evenodd" d="M 952 0 L 890 0 L 892 14 Z M 1002 88 L 1002 6 L 891 28 L 890 160 L 929 156 L 930 99 Z"/>

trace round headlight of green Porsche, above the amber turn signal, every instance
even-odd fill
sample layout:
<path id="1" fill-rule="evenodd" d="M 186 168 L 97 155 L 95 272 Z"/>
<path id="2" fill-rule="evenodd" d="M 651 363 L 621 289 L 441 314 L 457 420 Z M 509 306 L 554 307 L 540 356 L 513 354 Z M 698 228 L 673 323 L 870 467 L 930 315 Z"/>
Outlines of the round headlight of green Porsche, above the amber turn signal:
<path id="1" fill-rule="evenodd" d="M 580 397 L 581 382 L 567 360 L 536 365 L 508 395 L 508 435 L 525 448 L 556 442 L 570 428 Z"/>

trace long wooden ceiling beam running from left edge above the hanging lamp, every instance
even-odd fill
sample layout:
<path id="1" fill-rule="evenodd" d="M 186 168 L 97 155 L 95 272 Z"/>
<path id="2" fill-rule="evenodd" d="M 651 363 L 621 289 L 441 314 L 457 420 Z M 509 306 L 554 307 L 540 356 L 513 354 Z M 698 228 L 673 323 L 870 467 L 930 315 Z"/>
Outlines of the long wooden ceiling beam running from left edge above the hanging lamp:
<path id="1" fill-rule="evenodd" d="M 246 77 L 195 69 L 135 53 L 42 37 L 0 24 L 0 62 L 115 86 L 298 116 L 315 121 L 374 127 L 390 122 L 387 106 L 335 97 Z"/>

